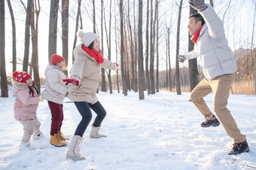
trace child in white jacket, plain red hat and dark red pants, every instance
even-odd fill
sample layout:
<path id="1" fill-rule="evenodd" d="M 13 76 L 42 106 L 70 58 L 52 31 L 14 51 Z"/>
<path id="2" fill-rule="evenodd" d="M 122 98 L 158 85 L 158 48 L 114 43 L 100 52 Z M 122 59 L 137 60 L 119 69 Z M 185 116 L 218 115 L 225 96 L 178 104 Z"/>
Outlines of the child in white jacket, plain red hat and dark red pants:
<path id="1" fill-rule="evenodd" d="M 63 101 L 67 94 L 68 88 L 62 79 L 67 76 L 62 72 L 65 67 L 65 59 L 60 55 L 52 55 L 51 64 L 47 65 L 44 73 L 46 77 L 45 90 L 41 96 L 48 100 L 51 112 L 50 126 L 50 144 L 60 147 L 66 145 L 66 139 L 61 132 L 63 121 Z"/>

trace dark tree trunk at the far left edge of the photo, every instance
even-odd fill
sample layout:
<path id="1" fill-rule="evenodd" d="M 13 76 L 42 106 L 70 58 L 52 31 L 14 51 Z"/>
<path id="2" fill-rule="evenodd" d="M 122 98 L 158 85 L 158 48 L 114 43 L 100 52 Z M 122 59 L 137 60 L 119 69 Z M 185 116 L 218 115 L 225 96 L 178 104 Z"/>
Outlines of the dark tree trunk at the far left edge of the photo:
<path id="1" fill-rule="evenodd" d="M 8 97 L 7 77 L 5 70 L 5 0 L 0 0 L 0 72 L 1 97 Z"/>

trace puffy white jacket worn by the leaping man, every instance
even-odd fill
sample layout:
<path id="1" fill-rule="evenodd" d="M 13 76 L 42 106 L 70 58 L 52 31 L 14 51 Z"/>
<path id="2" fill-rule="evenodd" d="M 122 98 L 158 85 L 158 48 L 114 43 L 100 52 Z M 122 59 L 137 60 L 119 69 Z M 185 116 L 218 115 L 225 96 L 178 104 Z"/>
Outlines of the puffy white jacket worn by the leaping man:
<path id="1" fill-rule="evenodd" d="M 210 4 L 201 15 L 206 21 L 194 44 L 194 50 L 184 55 L 187 59 L 199 58 L 200 66 L 206 79 L 214 79 L 224 74 L 235 73 L 237 70 L 233 52 L 227 45 L 222 20 Z"/>

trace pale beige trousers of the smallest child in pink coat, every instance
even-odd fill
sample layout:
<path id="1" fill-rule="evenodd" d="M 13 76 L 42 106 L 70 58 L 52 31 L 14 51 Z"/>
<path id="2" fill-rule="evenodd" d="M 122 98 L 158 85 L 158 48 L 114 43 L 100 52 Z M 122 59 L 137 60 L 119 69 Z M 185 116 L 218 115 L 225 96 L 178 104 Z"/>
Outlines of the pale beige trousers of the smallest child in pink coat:
<path id="1" fill-rule="evenodd" d="M 23 125 L 24 130 L 21 144 L 26 144 L 27 142 L 29 142 L 29 139 L 31 138 L 33 133 L 35 135 L 39 135 L 41 133 L 41 123 L 38 121 L 38 118 L 35 118 L 33 120 L 20 121 L 20 123 Z"/>

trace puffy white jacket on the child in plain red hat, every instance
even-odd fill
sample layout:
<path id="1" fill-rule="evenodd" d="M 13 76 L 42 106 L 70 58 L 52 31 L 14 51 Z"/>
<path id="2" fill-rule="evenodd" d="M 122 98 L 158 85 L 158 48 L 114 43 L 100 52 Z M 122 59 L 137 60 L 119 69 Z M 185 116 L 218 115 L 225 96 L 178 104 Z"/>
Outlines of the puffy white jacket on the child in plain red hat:
<path id="1" fill-rule="evenodd" d="M 45 74 L 45 89 L 41 96 L 48 101 L 63 104 L 64 98 L 68 91 L 68 86 L 62 79 L 67 79 L 65 73 L 54 65 L 47 65 L 44 71 Z"/>

